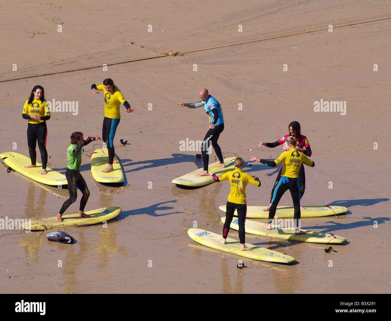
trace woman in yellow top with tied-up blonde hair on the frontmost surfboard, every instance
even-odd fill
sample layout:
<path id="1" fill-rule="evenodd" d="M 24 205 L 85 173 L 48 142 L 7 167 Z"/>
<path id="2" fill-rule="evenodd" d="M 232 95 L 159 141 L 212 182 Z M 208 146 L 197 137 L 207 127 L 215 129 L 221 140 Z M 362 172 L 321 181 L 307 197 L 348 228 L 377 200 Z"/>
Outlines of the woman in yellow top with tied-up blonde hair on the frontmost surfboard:
<path id="1" fill-rule="evenodd" d="M 244 166 L 244 160 L 241 157 L 235 158 L 234 161 L 235 170 L 226 172 L 221 176 L 217 177 L 215 173 L 209 172 L 209 175 L 212 175 L 213 180 L 216 182 L 230 180 L 231 192 L 228 195 L 227 200 L 227 210 L 226 210 L 226 219 L 222 232 L 222 239 L 219 241 L 221 244 L 225 244 L 228 232 L 230 231 L 230 225 L 233 219 L 233 213 L 235 209 L 237 210 L 237 215 L 239 219 L 239 240 L 240 240 L 240 249 L 242 251 L 249 251 L 252 248 L 248 248 L 245 245 L 246 233 L 244 229 L 244 222 L 246 221 L 247 213 L 247 203 L 246 203 L 246 186 L 247 183 L 251 183 L 255 186 L 261 186 L 261 182 L 258 177 L 250 176 L 247 173 L 242 172 Z"/>

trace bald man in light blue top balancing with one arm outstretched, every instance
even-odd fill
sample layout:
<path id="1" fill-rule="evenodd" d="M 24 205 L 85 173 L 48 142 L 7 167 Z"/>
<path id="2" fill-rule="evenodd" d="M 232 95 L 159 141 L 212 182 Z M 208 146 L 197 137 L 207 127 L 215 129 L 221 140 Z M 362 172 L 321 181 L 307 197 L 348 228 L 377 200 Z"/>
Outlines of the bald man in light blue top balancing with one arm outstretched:
<path id="1" fill-rule="evenodd" d="M 186 106 L 188 108 L 198 108 L 204 106 L 205 114 L 209 117 L 209 130 L 205 135 L 205 138 L 201 145 L 202 161 L 204 163 L 204 170 L 201 173 L 195 174 L 197 176 L 208 175 L 209 154 L 208 148 L 212 143 L 213 149 L 220 163 L 216 166 L 225 167 L 224 159 L 222 158 L 221 148 L 217 144 L 217 140 L 220 137 L 222 131 L 224 131 L 224 119 L 222 116 L 220 103 L 212 96 L 210 96 L 208 89 L 201 89 L 199 92 L 199 98 L 201 102 L 197 103 L 178 103 L 178 105 Z"/>

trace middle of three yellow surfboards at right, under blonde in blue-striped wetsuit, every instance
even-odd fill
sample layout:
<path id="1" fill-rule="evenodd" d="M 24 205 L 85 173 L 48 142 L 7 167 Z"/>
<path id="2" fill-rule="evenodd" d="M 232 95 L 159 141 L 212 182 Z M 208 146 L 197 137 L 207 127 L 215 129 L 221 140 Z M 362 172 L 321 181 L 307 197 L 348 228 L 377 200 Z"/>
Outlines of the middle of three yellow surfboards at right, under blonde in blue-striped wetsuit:
<path id="1" fill-rule="evenodd" d="M 221 221 L 225 223 L 226 217 L 223 216 L 221 218 Z M 307 234 L 300 234 L 295 235 L 294 234 L 294 228 L 281 228 L 278 227 L 278 225 L 272 225 L 271 230 L 264 229 L 264 226 L 267 225 L 267 223 L 261 223 L 256 221 L 251 221 L 250 219 L 246 219 L 246 233 L 249 234 L 255 234 L 255 235 L 261 235 L 261 236 L 268 236 L 270 238 L 278 238 L 278 239 L 286 239 L 289 241 L 300 241 L 300 242 L 308 242 L 308 243 L 330 243 L 330 244 L 341 244 L 346 241 L 345 238 L 342 238 L 341 236 L 326 234 L 326 233 L 319 233 L 319 232 L 313 232 L 310 230 L 303 230 L 304 232 L 307 232 Z M 231 229 L 239 230 L 238 225 L 238 219 L 233 219 L 230 225 Z"/>

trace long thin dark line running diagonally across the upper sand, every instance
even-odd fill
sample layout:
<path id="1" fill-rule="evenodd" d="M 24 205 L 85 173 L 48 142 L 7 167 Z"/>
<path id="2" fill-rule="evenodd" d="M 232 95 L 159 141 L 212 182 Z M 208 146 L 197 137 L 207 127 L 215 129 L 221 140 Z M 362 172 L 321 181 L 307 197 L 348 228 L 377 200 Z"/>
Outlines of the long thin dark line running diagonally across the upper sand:
<path id="1" fill-rule="evenodd" d="M 387 20 L 387 19 L 391 19 L 391 17 L 377 19 L 377 20 L 369 20 L 369 21 L 364 21 L 364 22 L 356 22 L 355 24 L 340 25 L 340 26 L 337 26 L 337 27 L 333 27 L 333 29 L 349 27 L 349 26 L 352 26 L 352 25 L 368 24 L 369 22 L 376 22 L 376 21 Z M 225 47 L 231 47 L 231 46 L 237 46 L 237 45 L 253 44 L 254 42 L 260 42 L 260 41 L 266 41 L 266 40 L 274 40 L 274 39 L 286 38 L 286 37 L 291 37 L 291 36 L 298 36 L 300 34 L 315 33 L 315 32 L 325 31 L 325 30 L 328 30 L 328 28 L 317 29 L 317 30 L 312 30 L 312 31 L 303 31 L 301 33 L 286 34 L 285 36 L 275 36 L 275 37 L 271 37 L 271 38 L 265 38 L 265 39 L 259 39 L 259 40 L 251 40 L 251 41 L 247 41 L 247 42 L 240 42 L 238 44 L 223 45 L 223 46 L 199 49 L 199 50 L 194 50 L 194 51 L 186 51 L 186 52 L 184 52 L 182 54 L 197 53 L 199 51 L 219 49 L 219 48 L 225 48 Z M 150 59 L 156 59 L 156 58 L 161 58 L 161 57 L 169 57 L 169 55 L 149 57 L 149 58 L 141 58 L 141 59 L 135 59 L 135 60 L 126 60 L 126 61 L 122 61 L 122 62 L 113 62 L 113 63 L 107 63 L 107 65 L 108 66 L 120 65 L 122 63 L 137 62 L 137 61 L 150 60 Z M 81 67 L 81 68 L 75 68 L 75 69 L 69 69 L 69 70 L 63 70 L 63 71 L 54 71 L 52 73 L 38 74 L 38 75 L 33 75 L 33 76 L 25 76 L 25 77 L 14 78 L 14 79 L 0 80 L 0 83 L 2 83 L 2 82 L 12 82 L 14 80 L 22 80 L 22 79 L 35 78 L 35 77 L 51 76 L 51 75 L 55 75 L 55 74 L 72 73 L 74 71 L 82 71 L 82 70 L 88 70 L 88 69 L 100 68 L 100 67 L 102 67 L 102 66 L 99 65 L 99 66 Z"/>

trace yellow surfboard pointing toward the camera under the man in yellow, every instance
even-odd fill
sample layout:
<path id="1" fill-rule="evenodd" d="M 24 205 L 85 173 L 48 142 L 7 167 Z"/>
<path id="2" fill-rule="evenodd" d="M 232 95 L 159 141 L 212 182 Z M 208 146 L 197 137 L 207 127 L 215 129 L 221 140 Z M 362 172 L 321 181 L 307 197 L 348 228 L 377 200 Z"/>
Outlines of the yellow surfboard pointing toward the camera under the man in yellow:
<path id="1" fill-rule="evenodd" d="M 108 150 L 105 148 L 95 149 L 91 155 L 91 174 L 95 181 L 99 183 L 122 183 L 124 181 L 124 171 L 122 170 L 120 161 L 117 155 L 114 155 L 117 164 L 113 164 L 113 171 L 102 173 L 106 169 L 108 163 L 105 160 L 109 159 Z"/>

